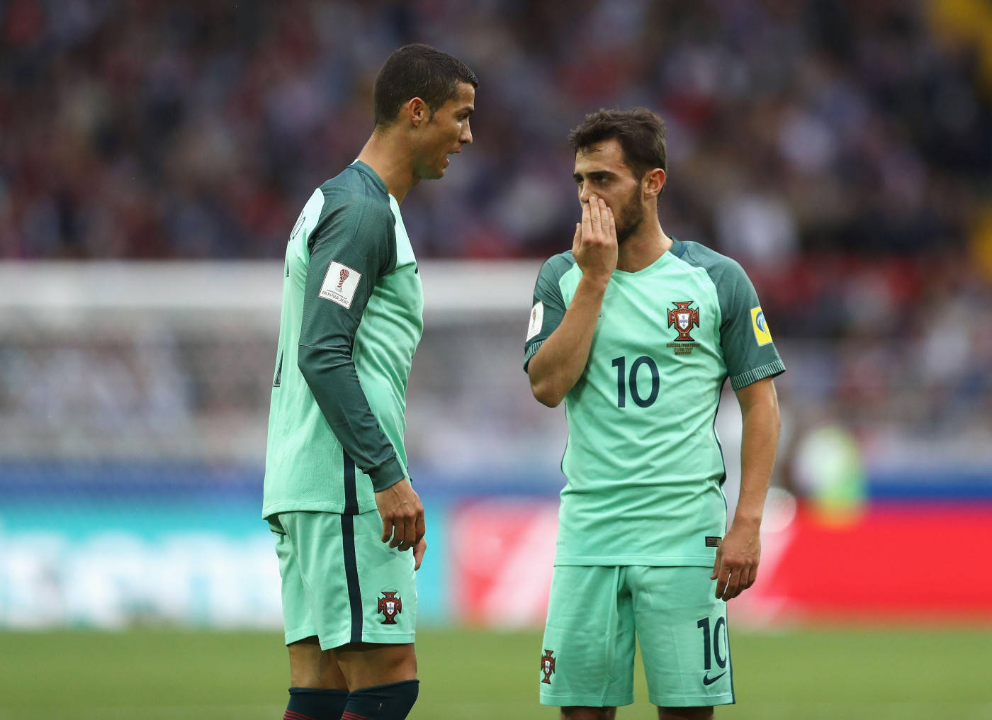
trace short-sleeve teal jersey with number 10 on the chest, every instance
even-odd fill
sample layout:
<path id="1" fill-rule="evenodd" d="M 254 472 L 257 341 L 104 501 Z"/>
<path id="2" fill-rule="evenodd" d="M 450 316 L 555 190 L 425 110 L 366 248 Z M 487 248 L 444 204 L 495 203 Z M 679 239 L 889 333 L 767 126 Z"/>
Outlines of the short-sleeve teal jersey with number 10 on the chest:
<path id="1" fill-rule="evenodd" d="M 525 370 L 581 275 L 570 252 L 542 268 Z M 676 240 L 647 268 L 614 271 L 585 370 L 564 399 L 556 564 L 712 565 L 727 522 L 721 388 L 785 369 L 733 260 Z"/>

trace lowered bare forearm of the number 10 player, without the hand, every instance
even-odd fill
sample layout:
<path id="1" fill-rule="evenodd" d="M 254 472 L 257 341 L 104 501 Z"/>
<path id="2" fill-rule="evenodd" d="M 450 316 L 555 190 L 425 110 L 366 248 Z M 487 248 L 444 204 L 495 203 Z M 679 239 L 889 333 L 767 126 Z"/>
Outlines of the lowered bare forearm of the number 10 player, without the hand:
<path id="1" fill-rule="evenodd" d="M 775 466 L 779 442 L 779 408 L 774 402 L 757 403 L 743 409 L 741 436 L 741 489 L 734 525 L 761 525 L 765 497 Z"/>

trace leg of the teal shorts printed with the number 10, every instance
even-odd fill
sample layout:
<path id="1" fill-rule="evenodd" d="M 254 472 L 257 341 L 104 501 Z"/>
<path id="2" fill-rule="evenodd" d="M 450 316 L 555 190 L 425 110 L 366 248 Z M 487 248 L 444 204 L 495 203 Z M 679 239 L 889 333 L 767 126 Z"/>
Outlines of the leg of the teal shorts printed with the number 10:
<path id="1" fill-rule="evenodd" d="M 648 696 L 662 707 L 734 702 L 727 604 L 709 567 L 631 567 Z"/>

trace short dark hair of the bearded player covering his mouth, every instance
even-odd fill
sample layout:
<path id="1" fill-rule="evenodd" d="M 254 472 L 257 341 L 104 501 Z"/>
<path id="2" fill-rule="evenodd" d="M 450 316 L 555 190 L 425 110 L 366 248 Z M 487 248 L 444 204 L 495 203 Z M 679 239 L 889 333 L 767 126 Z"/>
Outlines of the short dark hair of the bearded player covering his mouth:
<path id="1" fill-rule="evenodd" d="M 668 173 L 665 121 L 647 108 L 590 113 L 568 133 L 568 145 L 576 153 L 614 139 L 620 143 L 624 163 L 637 180 L 655 168 Z"/>

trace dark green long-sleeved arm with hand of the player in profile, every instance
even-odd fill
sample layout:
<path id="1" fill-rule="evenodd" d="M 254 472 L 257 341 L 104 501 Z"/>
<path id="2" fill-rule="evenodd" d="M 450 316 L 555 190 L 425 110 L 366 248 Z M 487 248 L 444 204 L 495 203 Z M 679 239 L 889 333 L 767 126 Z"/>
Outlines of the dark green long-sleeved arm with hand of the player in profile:
<path id="1" fill-rule="evenodd" d="M 372 480 L 383 541 L 392 538 L 391 546 L 406 550 L 424 536 L 424 507 L 369 407 L 352 360 L 376 282 L 396 265 L 391 219 L 392 213 L 344 202 L 314 228 L 298 364 L 341 447 Z M 336 288 L 348 281 L 342 270 L 360 276 L 343 295 Z"/>

